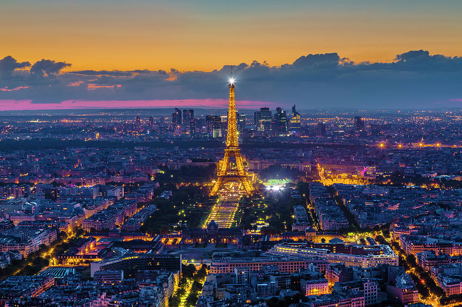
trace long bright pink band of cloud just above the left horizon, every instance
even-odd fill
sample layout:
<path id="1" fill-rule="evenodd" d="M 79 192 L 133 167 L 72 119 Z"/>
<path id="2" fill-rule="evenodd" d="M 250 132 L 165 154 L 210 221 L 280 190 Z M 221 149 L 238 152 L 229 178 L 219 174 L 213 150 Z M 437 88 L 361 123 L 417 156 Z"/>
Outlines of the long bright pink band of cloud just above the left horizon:
<path id="1" fill-rule="evenodd" d="M 32 100 L 1 100 L 0 111 L 66 110 L 66 109 L 150 109 L 150 108 L 227 108 L 227 99 L 166 99 L 166 100 L 64 100 L 58 104 L 33 104 Z M 257 109 L 261 106 L 276 107 L 266 101 L 238 100 L 236 106 Z"/>

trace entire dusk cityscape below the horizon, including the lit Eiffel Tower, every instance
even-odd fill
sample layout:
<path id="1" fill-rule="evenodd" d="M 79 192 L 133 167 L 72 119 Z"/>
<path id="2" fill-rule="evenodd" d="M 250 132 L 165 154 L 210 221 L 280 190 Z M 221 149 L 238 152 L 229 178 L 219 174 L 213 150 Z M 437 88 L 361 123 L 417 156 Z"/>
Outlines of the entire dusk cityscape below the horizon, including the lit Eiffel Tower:
<path id="1" fill-rule="evenodd" d="M 460 110 L 232 112 L 0 115 L 0 305 L 462 304 Z"/>

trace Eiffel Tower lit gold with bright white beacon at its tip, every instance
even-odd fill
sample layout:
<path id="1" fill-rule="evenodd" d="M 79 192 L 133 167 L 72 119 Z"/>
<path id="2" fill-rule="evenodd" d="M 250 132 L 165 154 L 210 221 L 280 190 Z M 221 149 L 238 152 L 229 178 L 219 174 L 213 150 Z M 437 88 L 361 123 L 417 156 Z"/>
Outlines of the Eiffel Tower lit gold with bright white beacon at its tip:
<path id="1" fill-rule="evenodd" d="M 226 148 L 223 162 L 218 169 L 217 181 L 210 191 L 210 195 L 216 195 L 217 192 L 227 182 L 239 182 L 248 195 L 254 193 L 254 187 L 248 180 L 247 172 L 244 170 L 242 163 L 241 150 L 238 143 L 238 131 L 236 124 L 236 100 L 234 96 L 234 86 L 236 81 L 233 78 L 233 68 L 231 68 L 231 78 L 229 79 L 229 110 L 228 110 L 228 135 L 226 136 Z M 236 169 L 230 168 L 230 158 L 236 159 Z"/>

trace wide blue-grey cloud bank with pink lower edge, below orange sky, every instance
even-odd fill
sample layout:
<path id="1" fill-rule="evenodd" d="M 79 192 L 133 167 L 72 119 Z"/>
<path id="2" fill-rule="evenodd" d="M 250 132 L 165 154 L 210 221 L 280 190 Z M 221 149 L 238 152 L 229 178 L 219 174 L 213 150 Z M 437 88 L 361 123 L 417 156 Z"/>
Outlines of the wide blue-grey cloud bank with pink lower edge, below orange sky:
<path id="1" fill-rule="evenodd" d="M 425 50 L 397 54 L 391 63 L 353 63 L 324 53 L 281 66 L 257 61 L 233 66 L 241 107 L 402 109 L 459 107 L 462 101 L 462 57 Z M 230 65 L 211 72 L 63 72 L 69 67 L 50 59 L 33 65 L 12 56 L 1 59 L 0 110 L 226 107 Z"/>

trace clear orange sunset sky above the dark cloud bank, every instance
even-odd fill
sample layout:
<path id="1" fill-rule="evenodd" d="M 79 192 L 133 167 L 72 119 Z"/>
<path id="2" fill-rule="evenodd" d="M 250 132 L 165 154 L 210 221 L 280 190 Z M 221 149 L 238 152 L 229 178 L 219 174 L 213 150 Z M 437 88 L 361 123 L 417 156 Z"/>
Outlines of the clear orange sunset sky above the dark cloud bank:
<path id="1" fill-rule="evenodd" d="M 161 4 L 159 4 L 161 3 Z M 457 1 L 15 1 L 0 10 L 0 58 L 70 70 L 205 70 L 337 52 L 355 62 L 425 49 L 461 55 Z M 67 69 L 69 70 L 69 69 Z"/>

